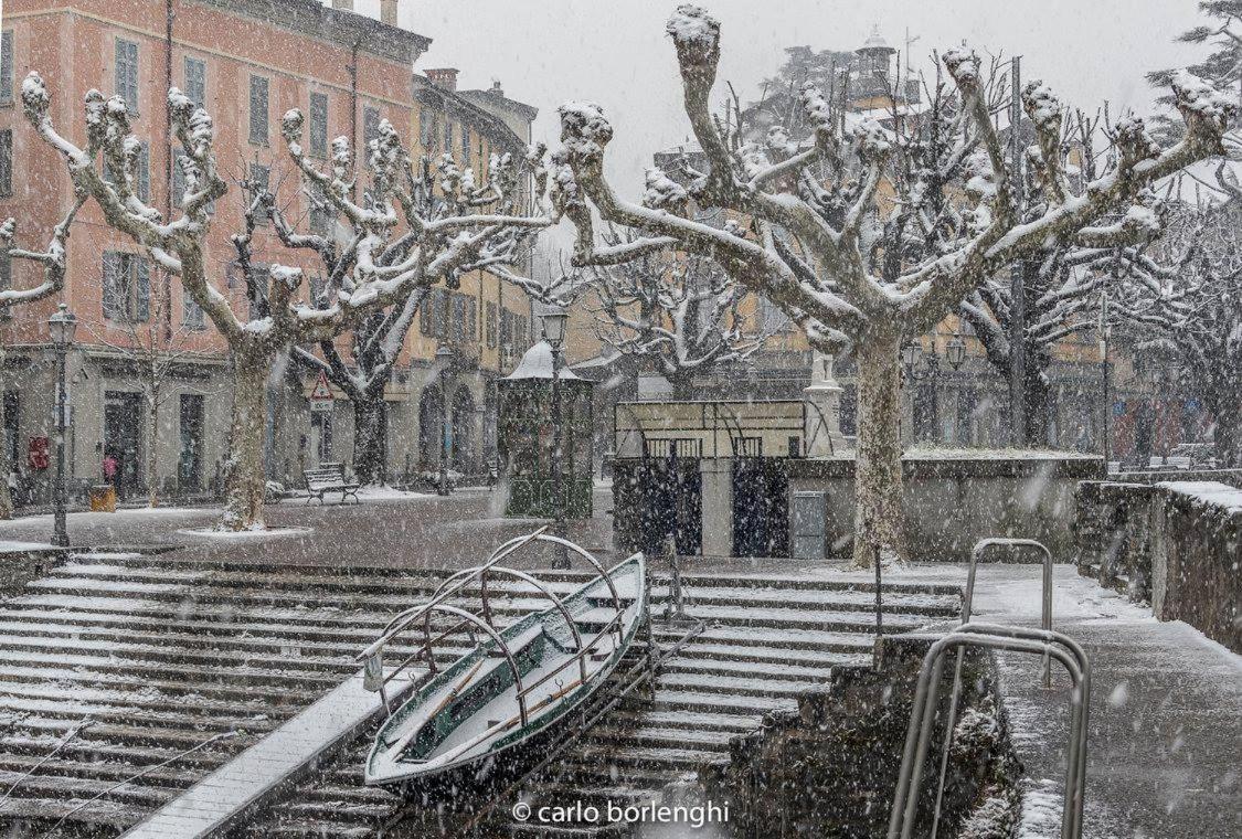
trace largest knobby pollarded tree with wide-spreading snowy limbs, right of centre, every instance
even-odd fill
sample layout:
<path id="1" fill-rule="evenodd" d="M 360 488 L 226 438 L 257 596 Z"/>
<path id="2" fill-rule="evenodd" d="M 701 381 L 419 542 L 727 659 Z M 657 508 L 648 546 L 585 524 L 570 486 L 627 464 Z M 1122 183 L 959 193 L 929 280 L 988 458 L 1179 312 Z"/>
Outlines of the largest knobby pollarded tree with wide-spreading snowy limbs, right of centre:
<path id="1" fill-rule="evenodd" d="M 869 565 L 876 556 L 905 557 L 903 340 L 929 331 L 987 277 L 1035 256 L 1049 236 L 1115 245 L 1143 235 L 1146 210 L 1128 207 L 1154 181 L 1221 153 L 1231 103 L 1199 79 L 1179 76 L 1174 87 L 1184 138 L 1163 149 L 1141 119 L 1126 117 L 1117 124 L 1115 170 L 1076 191 L 1059 155 L 1063 108 L 1042 83 L 1027 84 L 1022 104 L 1038 138 L 1037 180 L 1046 205 L 1038 217 L 1020 218 L 975 55 L 953 50 L 943 56 L 958 105 L 932 120 L 927 141 L 934 134 L 951 158 L 982 150 L 975 177 L 989 182 L 979 185 L 977 199 L 940 205 L 929 199 L 938 192 L 929 191 L 929 181 L 944 174 L 924 163 L 923 141 L 905 144 L 871 119 L 833 113 L 814 84 L 801 91 L 805 119 L 814 127 L 807 141 L 791 143 L 779 127 L 764 144 L 725 132 L 709 108 L 719 30 L 705 11 L 688 5 L 668 22 L 686 113 L 707 160 L 707 171 L 688 187 L 651 170 L 641 204 L 622 200 L 604 176 L 612 139 L 604 110 L 589 102 L 561 105 L 563 148 L 551 180 L 556 206 L 578 230 L 574 261 L 619 263 L 662 248 L 707 256 L 782 309 L 815 349 L 852 346 L 858 365 L 854 559 Z M 739 225 L 703 225 L 689 212 L 692 205 L 734 213 Z M 641 236 L 619 246 L 597 243 L 592 207 L 605 222 Z M 1122 220 L 1102 223 L 1109 213 Z"/>

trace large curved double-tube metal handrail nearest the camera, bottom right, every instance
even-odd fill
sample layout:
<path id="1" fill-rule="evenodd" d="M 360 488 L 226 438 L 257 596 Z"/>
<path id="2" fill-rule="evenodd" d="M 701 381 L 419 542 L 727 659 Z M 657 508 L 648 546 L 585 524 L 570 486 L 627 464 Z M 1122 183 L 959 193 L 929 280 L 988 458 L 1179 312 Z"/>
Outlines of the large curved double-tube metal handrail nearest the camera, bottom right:
<path id="1" fill-rule="evenodd" d="M 1090 705 L 1090 662 L 1086 652 L 1072 638 L 1058 632 L 969 623 L 936 639 L 923 658 L 923 666 L 919 669 L 918 685 L 914 691 L 914 702 L 910 707 L 910 724 L 905 732 L 902 768 L 898 773 L 893 808 L 889 813 L 888 839 L 909 839 L 914 829 L 919 798 L 918 788 L 934 727 L 935 696 L 944 668 L 944 655 L 950 648 L 963 649 L 968 645 L 1048 655 L 1064 665 L 1069 673 L 1073 683 L 1069 698 L 1072 716 L 1069 753 L 1066 761 L 1066 807 L 1061 819 L 1061 839 L 1081 839 L 1087 777 L 1087 724 Z M 946 740 L 951 736 L 953 726 L 954 722 L 950 721 Z M 940 802 L 938 801 L 936 818 L 939 818 L 939 807 Z"/>

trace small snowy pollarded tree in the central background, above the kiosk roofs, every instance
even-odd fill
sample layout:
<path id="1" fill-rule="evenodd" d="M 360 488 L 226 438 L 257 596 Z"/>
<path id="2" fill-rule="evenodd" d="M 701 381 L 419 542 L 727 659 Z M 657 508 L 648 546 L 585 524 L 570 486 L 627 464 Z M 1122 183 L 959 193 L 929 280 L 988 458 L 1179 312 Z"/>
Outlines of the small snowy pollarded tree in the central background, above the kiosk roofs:
<path id="1" fill-rule="evenodd" d="M 740 312 L 746 289 L 709 259 L 643 253 L 619 266 L 591 268 L 596 335 L 622 355 L 647 362 L 673 388 L 693 396 L 696 376 L 745 361 L 764 344 L 748 334 Z"/>

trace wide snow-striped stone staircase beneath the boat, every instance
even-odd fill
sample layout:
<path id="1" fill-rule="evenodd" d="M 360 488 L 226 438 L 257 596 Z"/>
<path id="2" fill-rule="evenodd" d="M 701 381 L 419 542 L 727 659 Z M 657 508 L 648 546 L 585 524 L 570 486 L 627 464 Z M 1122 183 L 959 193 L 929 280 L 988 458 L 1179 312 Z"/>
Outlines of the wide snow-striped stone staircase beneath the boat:
<path id="1" fill-rule="evenodd" d="M 559 591 L 584 576 L 540 572 Z M 122 833 L 355 673 L 355 655 L 388 618 L 441 578 L 433 570 L 73 557 L 0 602 L 0 830 Z M 684 585 L 705 628 L 666 663 L 653 690 L 630 698 L 561 756 L 561 771 L 540 781 L 544 796 L 650 797 L 723 756 L 728 737 L 763 712 L 792 707 L 797 691 L 832 666 L 869 660 L 866 585 Z M 545 606 L 499 581 L 489 591 L 501 621 Z M 658 617 L 663 587 L 653 594 Z M 954 590 L 886 586 L 887 632 L 956 609 Z M 657 643 L 681 634 L 655 624 Z M 247 835 L 366 837 L 407 813 L 396 796 L 361 784 L 366 747 L 368 736 L 349 743 Z"/>

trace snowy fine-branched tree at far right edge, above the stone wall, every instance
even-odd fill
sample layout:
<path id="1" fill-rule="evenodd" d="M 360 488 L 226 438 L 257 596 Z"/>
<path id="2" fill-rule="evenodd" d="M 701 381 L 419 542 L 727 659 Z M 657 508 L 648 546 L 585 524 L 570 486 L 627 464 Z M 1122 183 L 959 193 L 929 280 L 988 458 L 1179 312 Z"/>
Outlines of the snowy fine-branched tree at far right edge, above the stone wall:
<path id="1" fill-rule="evenodd" d="M 1172 359 L 1212 417 L 1216 457 L 1242 467 L 1242 205 L 1177 202 L 1169 232 L 1130 259 L 1109 310 L 1139 352 Z"/>

